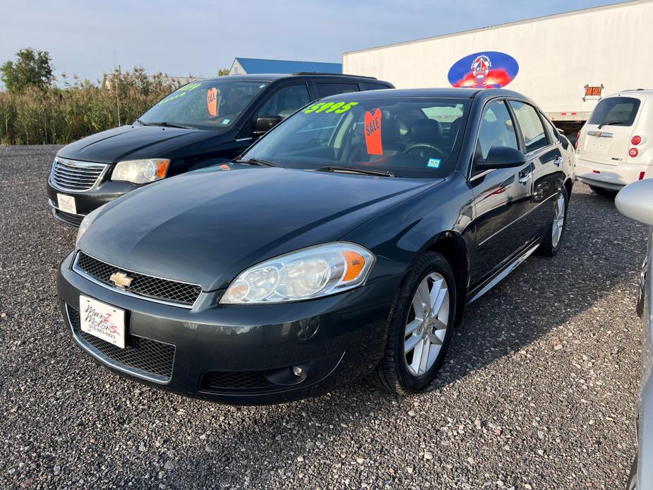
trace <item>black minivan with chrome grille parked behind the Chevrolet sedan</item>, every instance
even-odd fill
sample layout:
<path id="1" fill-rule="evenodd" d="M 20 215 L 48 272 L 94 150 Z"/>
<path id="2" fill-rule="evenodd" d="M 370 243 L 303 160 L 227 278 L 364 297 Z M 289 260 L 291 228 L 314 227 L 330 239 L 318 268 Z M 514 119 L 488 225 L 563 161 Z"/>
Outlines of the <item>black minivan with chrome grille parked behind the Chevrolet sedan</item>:
<path id="1" fill-rule="evenodd" d="M 78 226 L 124 193 L 233 160 L 312 100 L 394 88 L 375 78 L 333 73 L 234 75 L 188 83 L 131 125 L 61 148 L 47 183 L 52 214 Z"/>

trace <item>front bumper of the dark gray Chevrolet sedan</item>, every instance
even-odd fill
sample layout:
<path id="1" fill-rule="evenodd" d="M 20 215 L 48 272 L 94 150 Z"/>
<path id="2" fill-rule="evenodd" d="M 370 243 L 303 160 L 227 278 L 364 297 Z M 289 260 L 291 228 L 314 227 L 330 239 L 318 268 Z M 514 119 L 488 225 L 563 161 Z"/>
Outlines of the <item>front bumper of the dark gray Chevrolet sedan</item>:
<path id="1" fill-rule="evenodd" d="M 213 301 L 184 309 L 98 285 L 71 270 L 72 259 L 73 253 L 61 264 L 57 289 L 64 321 L 80 347 L 128 378 L 234 405 L 305 398 L 368 374 L 383 357 L 401 281 L 390 277 L 289 304 Z M 127 349 L 80 333 L 74 318 L 80 294 L 126 310 Z M 304 374 L 293 374 L 294 366 Z"/>

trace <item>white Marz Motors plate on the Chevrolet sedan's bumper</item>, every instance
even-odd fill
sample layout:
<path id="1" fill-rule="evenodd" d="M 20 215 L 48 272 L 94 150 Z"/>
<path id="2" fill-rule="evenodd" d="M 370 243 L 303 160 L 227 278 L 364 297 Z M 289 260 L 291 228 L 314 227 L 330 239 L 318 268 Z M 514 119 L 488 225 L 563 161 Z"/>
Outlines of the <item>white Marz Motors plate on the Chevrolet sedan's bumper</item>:
<path id="1" fill-rule="evenodd" d="M 80 294 L 80 327 L 83 332 L 125 348 L 125 311 Z"/>

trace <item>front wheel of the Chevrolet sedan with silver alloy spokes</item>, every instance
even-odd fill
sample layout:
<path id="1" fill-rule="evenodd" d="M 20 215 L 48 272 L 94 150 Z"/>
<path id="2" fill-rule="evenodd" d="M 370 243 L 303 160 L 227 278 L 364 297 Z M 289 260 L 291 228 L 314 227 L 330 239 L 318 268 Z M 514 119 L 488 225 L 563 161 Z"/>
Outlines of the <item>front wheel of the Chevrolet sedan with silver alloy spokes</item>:
<path id="1" fill-rule="evenodd" d="M 456 317 L 453 270 L 439 253 L 424 253 L 409 268 L 390 316 L 381 383 L 399 395 L 417 393 L 442 365 Z"/>

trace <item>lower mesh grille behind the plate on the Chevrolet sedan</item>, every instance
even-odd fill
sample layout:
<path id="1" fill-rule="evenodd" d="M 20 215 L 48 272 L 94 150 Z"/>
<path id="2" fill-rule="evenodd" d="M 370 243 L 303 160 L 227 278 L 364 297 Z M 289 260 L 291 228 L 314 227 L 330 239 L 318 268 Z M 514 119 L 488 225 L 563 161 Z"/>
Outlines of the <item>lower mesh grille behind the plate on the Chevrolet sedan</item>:
<path id="1" fill-rule="evenodd" d="M 113 365 L 117 369 L 157 383 L 167 383 L 172 378 L 174 345 L 136 335 L 127 335 L 125 348 L 121 349 L 95 337 L 95 335 L 83 332 L 79 311 L 73 306 L 66 304 L 66 311 L 76 339 L 97 359 Z"/>

